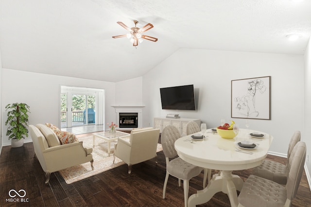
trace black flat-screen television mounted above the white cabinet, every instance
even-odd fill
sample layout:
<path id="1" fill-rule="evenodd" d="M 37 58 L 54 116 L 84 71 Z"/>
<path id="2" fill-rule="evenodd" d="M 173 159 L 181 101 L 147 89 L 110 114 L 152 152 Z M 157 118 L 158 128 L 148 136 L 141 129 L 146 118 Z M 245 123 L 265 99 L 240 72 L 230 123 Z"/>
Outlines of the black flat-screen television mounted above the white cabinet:
<path id="1" fill-rule="evenodd" d="M 160 88 L 162 109 L 195 110 L 193 85 Z"/>

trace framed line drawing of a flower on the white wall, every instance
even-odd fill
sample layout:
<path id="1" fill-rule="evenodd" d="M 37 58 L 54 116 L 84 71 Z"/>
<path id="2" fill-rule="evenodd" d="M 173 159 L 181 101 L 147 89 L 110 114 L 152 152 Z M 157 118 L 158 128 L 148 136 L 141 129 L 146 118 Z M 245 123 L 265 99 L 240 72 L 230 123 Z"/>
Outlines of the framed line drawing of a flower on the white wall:
<path id="1" fill-rule="evenodd" d="M 271 120 L 271 76 L 231 81 L 231 118 Z"/>

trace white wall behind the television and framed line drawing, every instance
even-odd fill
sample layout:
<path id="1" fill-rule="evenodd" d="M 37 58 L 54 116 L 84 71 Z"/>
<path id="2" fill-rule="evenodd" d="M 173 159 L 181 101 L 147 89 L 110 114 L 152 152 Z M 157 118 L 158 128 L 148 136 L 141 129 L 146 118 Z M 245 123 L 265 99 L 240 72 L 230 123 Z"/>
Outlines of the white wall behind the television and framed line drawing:
<path id="1" fill-rule="evenodd" d="M 303 123 L 303 55 L 181 49 L 143 76 L 145 125 L 154 117 L 177 113 L 207 127 L 231 118 L 231 80 L 271 76 L 271 120 L 251 120 L 250 129 L 274 136 L 270 150 L 286 155 L 294 131 Z M 161 109 L 160 87 L 193 84 L 197 111 Z M 233 119 L 245 128 L 244 119 Z"/>

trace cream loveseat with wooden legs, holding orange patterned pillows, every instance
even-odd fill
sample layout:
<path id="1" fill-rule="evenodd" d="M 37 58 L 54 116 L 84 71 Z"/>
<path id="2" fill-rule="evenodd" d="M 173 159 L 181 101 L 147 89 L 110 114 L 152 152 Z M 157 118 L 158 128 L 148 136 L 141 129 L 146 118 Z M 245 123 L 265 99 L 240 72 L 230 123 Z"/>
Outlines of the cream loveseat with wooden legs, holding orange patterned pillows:
<path id="1" fill-rule="evenodd" d="M 74 165 L 90 162 L 94 169 L 92 148 L 84 148 L 82 141 L 61 144 L 55 132 L 44 124 L 29 125 L 29 132 L 35 155 L 46 174 L 45 183 L 49 182 L 51 173 Z"/>

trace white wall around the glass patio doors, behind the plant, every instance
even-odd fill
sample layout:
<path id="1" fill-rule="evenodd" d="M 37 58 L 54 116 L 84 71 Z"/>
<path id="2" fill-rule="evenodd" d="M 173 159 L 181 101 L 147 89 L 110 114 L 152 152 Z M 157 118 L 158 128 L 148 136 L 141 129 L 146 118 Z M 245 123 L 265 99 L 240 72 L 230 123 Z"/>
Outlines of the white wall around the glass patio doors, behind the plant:
<path id="1" fill-rule="evenodd" d="M 116 121 L 114 109 L 115 83 L 94 81 L 66 76 L 2 69 L 2 145 L 10 145 L 5 136 L 7 126 L 5 106 L 9 103 L 22 102 L 30 106 L 29 124 L 51 122 L 59 123 L 60 86 L 80 86 L 105 90 L 105 121 Z M 31 141 L 30 136 L 25 142 Z"/>

